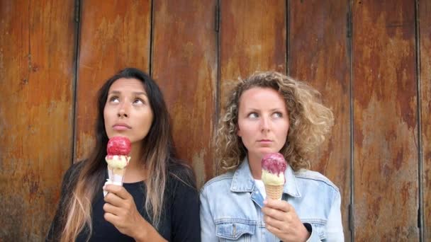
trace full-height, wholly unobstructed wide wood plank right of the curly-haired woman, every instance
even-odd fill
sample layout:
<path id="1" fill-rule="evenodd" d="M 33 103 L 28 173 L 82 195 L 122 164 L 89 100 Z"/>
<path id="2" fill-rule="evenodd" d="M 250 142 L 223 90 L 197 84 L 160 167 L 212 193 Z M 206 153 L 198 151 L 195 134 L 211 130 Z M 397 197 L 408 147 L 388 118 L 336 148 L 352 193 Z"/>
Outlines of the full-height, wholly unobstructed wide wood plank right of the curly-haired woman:
<path id="1" fill-rule="evenodd" d="M 352 11 L 354 238 L 418 241 L 415 2 Z"/>

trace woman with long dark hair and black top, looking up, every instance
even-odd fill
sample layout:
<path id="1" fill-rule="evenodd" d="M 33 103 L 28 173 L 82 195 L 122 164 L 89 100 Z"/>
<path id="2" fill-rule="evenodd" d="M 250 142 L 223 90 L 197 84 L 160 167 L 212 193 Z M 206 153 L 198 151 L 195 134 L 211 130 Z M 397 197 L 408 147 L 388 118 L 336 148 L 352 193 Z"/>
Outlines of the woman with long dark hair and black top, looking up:
<path id="1" fill-rule="evenodd" d="M 123 186 L 104 185 L 116 136 L 132 144 Z M 162 92 L 139 69 L 99 90 L 96 147 L 65 174 L 46 241 L 201 241 L 194 173 L 175 156 Z"/>

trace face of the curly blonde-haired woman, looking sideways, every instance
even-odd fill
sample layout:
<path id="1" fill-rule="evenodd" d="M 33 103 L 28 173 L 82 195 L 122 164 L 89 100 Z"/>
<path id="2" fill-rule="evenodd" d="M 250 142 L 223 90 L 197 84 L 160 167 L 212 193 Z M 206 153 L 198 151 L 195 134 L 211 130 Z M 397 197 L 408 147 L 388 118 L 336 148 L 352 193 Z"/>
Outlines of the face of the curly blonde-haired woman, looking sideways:
<path id="1" fill-rule="evenodd" d="M 249 159 L 279 152 L 286 143 L 289 114 L 284 98 L 272 88 L 250 88 L 242 93 L 238 110 L 238 136 Z"/>

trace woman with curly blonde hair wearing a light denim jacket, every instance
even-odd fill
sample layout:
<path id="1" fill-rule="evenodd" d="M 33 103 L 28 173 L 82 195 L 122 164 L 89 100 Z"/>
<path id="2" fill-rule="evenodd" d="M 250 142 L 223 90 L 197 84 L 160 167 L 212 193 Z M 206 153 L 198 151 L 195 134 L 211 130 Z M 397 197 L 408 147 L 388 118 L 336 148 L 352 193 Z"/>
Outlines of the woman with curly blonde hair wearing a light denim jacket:
<path id="1" fill-rule="evenodd" d="M 237 83 L 216 137 L 226 173 L 201 190 L 202 241 L 344 241 L 338 188 L 308 170 L 333 120 L 320 93 L 289 76 L 257 72 Z M 281 200 L 265 199 L 270 153 L 286 159 Z"/>

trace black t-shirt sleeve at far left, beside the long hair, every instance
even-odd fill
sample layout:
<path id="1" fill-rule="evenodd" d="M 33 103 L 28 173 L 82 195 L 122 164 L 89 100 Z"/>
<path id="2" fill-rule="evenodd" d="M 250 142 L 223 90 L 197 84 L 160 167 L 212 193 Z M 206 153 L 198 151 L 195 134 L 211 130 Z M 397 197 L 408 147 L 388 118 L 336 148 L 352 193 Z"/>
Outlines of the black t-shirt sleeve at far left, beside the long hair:
<path id="1" fill-rule="evenodd" d="M 77 177 L 77 173 L 79 172 L 79 168 L 81 167 L 82 162 L 75 163 L 72 165 L 63 176 L 62 187 L 60 192 L 60 201 L 57 205 L 57 211 L 55 212 L 54 219 L 52 219 L 52 223 L 50 225 L 50 229 L 47 232 L 47 236 L 45 241 L 60 241 L 60 235 L 62 232 L 63 225 L 63 217 L 65 212 L 65 206 L 67 202 L 67 197 L 72 192 L 73 180 Z"/>

